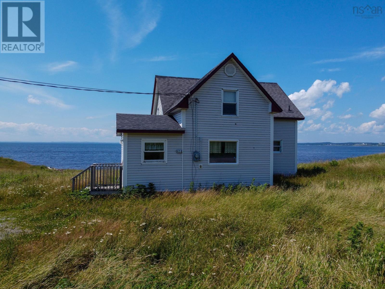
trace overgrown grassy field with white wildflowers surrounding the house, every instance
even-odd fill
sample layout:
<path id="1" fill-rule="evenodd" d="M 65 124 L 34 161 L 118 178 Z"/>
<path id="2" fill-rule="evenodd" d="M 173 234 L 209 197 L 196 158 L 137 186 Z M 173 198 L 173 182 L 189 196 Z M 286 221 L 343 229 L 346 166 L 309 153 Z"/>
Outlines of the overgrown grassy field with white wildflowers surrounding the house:
<path id="1" fill-rule="evenodd" d="M 0 158 L 0 287 L 385 287 L 385 154 L 151 198 L 74 195 L 75 173 Z"/>

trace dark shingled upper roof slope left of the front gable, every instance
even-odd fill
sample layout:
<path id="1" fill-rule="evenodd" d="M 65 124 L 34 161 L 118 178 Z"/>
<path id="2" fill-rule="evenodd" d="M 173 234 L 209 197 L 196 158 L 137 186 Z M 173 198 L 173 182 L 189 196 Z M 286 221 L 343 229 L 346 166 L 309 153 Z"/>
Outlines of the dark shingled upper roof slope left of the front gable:
<path id="1" fill-rule="evenodd" d="M 173 104 L 183 99 L 186 90 L 199 80 L 199 78 L 160 75 L 156 75 L 155 79 L 158 93 L 161 97 L 163 113 L 171 108 Z M 175 93 L 180 93 L 181 95 L 175 95 Z"/>

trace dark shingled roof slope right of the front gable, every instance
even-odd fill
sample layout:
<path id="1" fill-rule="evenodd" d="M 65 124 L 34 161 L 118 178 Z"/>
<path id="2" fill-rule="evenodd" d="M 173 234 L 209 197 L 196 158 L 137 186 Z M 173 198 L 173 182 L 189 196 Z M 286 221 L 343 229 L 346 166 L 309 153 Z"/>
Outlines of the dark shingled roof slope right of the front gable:
<path id="1" fill-rule="evenodd" d="M 290 100 L 290 98 L 286 95 L 286 93 L 282 90 L 282 88 L 276 82 L 259 82 L 263 88 L 270 94 L 271 97 L 275 100 L 275 102 L 282 109 L 281 113 L 275 113 L 274 118 L 277 119 L 305 119 L 305 116 L 298 110 L 298 108 L 294 105 L 294 103 Z M 290 109 L 290 110 L 289 110 Z"/>

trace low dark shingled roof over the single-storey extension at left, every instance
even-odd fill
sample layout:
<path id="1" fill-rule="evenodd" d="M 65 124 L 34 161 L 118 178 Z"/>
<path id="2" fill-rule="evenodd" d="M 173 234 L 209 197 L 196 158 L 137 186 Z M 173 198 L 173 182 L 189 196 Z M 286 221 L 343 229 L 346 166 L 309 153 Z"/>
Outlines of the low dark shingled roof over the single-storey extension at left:
<path id="1" fill-rule="evenodd" d="M 116 133 L 184 133 L 184 128 L 168 115 L 117 113 Z"/>

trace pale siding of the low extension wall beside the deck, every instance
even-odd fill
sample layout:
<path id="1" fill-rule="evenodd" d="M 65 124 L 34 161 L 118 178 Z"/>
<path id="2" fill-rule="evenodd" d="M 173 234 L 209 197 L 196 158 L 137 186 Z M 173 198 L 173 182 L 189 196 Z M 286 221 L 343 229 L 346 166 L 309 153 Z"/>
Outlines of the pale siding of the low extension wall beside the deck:
<path id="1" fill-rule="evenodd" d="M 142 139 L 167 139 L 167 163 L 142 164 Z M 182 189 L 181 134 L 128 134 L 127 185 L 154 183 L 157 190 Z"/>

